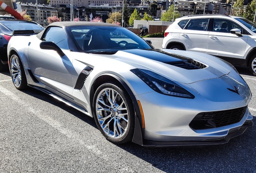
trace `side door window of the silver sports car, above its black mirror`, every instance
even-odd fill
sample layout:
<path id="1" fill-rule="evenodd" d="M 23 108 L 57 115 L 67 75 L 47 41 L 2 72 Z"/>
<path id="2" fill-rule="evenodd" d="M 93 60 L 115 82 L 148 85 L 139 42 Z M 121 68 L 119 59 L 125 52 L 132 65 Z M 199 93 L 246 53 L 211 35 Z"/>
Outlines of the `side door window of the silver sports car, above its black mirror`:
<path id="1" fill-rule="evenodd" d="M 45 34 L 44 40 L 52 41 L 62 49 L 69 49 L 66 33 L 60 27 L 49 28 Z"/>

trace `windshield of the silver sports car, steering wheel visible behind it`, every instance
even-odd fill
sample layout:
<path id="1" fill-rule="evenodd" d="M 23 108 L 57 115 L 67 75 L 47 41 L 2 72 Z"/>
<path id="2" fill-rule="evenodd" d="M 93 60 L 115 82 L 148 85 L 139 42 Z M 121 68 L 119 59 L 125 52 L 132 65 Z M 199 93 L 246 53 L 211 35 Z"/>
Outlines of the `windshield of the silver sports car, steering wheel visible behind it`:
<path id="1" fill-rule="evenodd" d="M 69 28 L 79 48 L 88 53 L 113 54 L 124 49 L 151 49 L 133 32 L 115 26 L 72 26 Z"/>

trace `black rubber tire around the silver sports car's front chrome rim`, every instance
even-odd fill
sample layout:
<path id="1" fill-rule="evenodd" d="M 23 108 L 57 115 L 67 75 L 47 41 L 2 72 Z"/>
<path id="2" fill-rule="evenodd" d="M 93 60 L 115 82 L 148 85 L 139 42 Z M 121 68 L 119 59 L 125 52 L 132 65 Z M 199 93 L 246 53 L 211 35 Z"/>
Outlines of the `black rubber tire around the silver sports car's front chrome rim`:
<path id="1" fill-rule="evenodd" d="M 107 134 L 105 134 L 105 132 L 103 131 L 103 129 L 101 128 L 101 125 L 99 125 L 98 119 L 97 119 L 97 113 L 96 113 L 96 102 L 97 102 L 97 97 L 99 95 L 99 93 L 102 92 L 103 89 L 106 88 L 111 88 L 114 89 L 115 91 L 117 91 L 120 96 L 122 97 L 123 101 L 126 103 L 126 108 L 127 108 L 127 113 L 128 113 L 128 125 L 127 125 L 127 129 L 126 129 L 126 133 L 118 138 L 118 139 L 114 139 L 112 137 L 109 137 Z M 133 137 L 133 133 L 134 133 L 134 109 L 133 109 L 133 105 L 132 105 L 132 101 L 129 97 L 125 96 L 128 95 L 128 93 L 122 89 L 122 87 L 120 87 L 120 84 L 116 83 L 116 82 L 106 82 L 104 84 L 102 84 L 95 92 L 95 95 L 93 97 L 93 117 L 95 119 L 96 125 L 99 129 L 99 131 L 103 134 L 103 136 L 110 142 L 112 143 L 126 143 L 132 140 Z"/>

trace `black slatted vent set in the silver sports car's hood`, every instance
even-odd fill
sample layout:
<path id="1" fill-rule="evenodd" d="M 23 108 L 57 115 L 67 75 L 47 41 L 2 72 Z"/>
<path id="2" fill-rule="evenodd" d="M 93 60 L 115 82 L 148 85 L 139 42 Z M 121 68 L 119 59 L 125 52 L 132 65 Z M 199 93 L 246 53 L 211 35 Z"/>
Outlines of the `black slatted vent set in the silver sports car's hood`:
<path id="1" fill-rule="evenodd" d="M 180 68 L 184 68 L 187 70 L 197 70 L 197 69 L 203 69 L 206 67 L 206 65 L 197 62 L 195 60 L 185 60 L 185 61 L 176 61 L 176 62 L 167 62 L 166 64 L 170 64 L 173 66 L 177 66 Z"/>

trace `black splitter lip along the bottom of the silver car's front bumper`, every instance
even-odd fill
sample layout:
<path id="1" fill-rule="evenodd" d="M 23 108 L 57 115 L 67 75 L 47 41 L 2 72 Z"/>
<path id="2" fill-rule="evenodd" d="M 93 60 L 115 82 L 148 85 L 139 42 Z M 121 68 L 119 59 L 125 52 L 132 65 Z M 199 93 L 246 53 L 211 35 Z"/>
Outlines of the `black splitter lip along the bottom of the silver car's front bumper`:
<path id="1" fill-rule="evenodd" d="M 151 140 L 143 140 L 143 146 L 145 147 L 196 147 L 196 146 L 206 146 L 206 145 L 219 145 L 225 144 L 229 141 L 229 139 L 242 135 L 244 131 L 248 127 L 252 127 L 253 122 L 249 121 L 244 123 L 240 129 L 236 131 L 232 131 L 227 134 L 227 136 L 221 139 L 206 139 L 206 140 L 195 140 L 195 141 L 151 141 Z"/>

